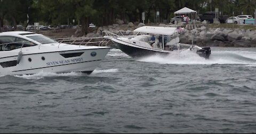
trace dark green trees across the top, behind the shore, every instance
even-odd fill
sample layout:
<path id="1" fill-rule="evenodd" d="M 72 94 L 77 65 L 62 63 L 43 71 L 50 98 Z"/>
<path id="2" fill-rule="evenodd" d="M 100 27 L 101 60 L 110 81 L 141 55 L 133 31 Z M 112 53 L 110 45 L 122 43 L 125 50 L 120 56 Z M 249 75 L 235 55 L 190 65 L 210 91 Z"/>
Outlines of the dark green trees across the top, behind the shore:
<path id="1" fill-rule="evenodd" d="M 115 23 L 116 19 L 125 22 L 155 22 L 159 19 L 169 22 L 174 12 L 183 7 L 191 8 L 198 14 L 215 11 L 221 14 L 253 15 L 255 0 L 0 0 L 0 25 L 22 24 L 27 26 L 40 22 L 49 25 L 81 24 L 86 33 L 89 23 L 98 26 Z M 74 20 L 74 21 L 73 21 Z M 6 24 L 7 23 L 7 24 Z"/>

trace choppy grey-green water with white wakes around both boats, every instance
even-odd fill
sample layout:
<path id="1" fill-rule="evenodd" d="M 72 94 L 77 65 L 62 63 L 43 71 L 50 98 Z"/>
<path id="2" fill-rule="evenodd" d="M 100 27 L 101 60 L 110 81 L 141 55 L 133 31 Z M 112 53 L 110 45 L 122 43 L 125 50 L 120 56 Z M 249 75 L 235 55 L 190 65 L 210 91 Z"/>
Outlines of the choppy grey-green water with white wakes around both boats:
<path id="1" fill-rule="evenodd" d="M 133 59 L 91 74 L 0 76 L 0 133 L 254 133 L 256 49 Z"/>

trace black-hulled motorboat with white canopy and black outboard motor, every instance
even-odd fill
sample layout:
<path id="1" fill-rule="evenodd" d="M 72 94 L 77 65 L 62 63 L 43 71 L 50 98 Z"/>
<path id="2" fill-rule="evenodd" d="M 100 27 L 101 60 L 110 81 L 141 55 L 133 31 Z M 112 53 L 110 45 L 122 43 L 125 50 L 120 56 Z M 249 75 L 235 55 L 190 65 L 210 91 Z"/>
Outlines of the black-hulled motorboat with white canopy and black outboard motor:
<path id="1" fill-rule="evenodd" d="M 105 33 L 105 38 L 110 39 L 116 44 L 116 48 L 133 58 L 151 55 L 166 56 L 176 50 L 194 51 L 205 59 L 209 59 L 211 55 L 210 47 L 201 48 L 193 44 L 179 43 L 180 40 L 177 28 L 142 26 L 134 31 L 103 32 Z"/>

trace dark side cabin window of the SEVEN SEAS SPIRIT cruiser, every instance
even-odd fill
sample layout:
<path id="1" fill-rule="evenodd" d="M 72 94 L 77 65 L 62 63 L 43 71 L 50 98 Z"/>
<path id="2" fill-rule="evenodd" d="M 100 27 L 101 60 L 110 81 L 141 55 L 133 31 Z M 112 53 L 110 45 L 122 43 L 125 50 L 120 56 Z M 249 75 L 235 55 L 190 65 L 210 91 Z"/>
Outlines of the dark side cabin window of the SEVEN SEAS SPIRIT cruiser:
<path id="1" fill-rule="evenodd" d="M 23 44 L 24 43 L 24 44 Z M 0 51 L 10 51 L 22 47 L 36 46 L 35 43 L 17 37 L 0 37 Z"/>

